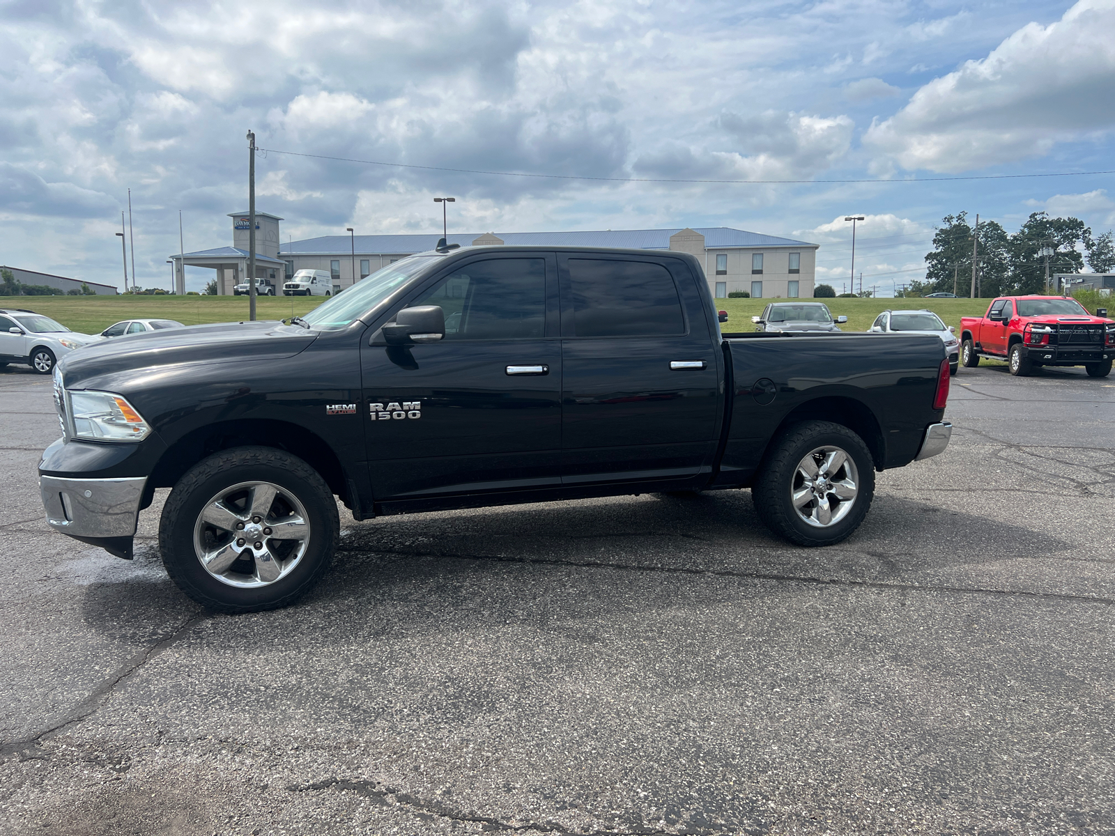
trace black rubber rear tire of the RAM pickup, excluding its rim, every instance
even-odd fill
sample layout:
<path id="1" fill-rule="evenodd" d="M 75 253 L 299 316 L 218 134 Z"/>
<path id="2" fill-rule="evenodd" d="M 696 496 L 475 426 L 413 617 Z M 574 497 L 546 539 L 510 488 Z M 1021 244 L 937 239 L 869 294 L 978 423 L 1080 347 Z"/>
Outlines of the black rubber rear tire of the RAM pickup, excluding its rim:
<path id="1" fill-rule="evenodd" d="M 826 446 L 840 448 L 854 464 L 857 494 L 842 518 L 826 527 L 816 527 L 794 507 L 793 493 L 798 464 L 812 450 Z M 843 425 L 817 420 L 793 424 L 783 430 L 770 444 L 752 485 L 752 500 L 759 519 L 772 532 L 799 546 L 831 546 L 847 539 L 867 515 L 874 494 L 874 459 L 863 439 Z"/>

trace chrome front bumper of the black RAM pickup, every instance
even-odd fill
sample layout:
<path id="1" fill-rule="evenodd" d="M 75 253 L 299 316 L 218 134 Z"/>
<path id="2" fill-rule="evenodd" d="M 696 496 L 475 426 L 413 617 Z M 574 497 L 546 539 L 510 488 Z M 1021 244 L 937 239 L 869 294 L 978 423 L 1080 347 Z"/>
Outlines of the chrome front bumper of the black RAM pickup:
<path id="1" fill-rule="evenodd" d="M 132 560 L 132 538 L 139 519 L 146 477 L 68 479 L 40 476 L 39 492 L 47 524 L 83 543 Z"/>

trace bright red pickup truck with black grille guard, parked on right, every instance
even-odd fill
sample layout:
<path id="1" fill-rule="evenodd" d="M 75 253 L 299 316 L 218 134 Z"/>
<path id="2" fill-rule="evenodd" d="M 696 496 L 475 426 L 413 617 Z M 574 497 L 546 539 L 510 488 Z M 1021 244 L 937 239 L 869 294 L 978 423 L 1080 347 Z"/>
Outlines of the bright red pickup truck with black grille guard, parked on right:
<path id="1" fill-rule="evenodd" d="M 1083 366 L 1088 377 L 1107 377 L 1115 321 L 1093 317 L 1067 297 L 999 297 L 982 317 L 960 319 L 960 361 L 979 366 L 981 357 L 1007 360 L 1011 375 L 1038 366 Z"/>

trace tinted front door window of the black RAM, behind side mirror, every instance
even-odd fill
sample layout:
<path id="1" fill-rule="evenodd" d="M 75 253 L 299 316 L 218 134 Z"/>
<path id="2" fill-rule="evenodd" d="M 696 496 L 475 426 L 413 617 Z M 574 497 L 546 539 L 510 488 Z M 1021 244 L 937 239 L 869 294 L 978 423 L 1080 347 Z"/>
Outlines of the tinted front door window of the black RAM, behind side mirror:
<path id="1" fill-rule="evenodd" d="M 542 338 L 546 329 L 545 261 L 475 261 L 410 304 L 440 305 L 447 340 Z"/>

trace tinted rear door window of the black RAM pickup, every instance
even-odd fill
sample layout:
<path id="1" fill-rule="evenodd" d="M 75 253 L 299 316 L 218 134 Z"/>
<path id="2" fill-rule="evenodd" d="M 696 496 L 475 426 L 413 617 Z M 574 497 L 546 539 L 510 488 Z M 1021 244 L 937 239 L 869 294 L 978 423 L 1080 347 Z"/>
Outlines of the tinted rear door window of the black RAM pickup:
<path id="1" fill-rule="evenodd" d="M 569 278 L 578 337 L 685 333 L 678 289 L 661 264 L 570 259 Z"/>

